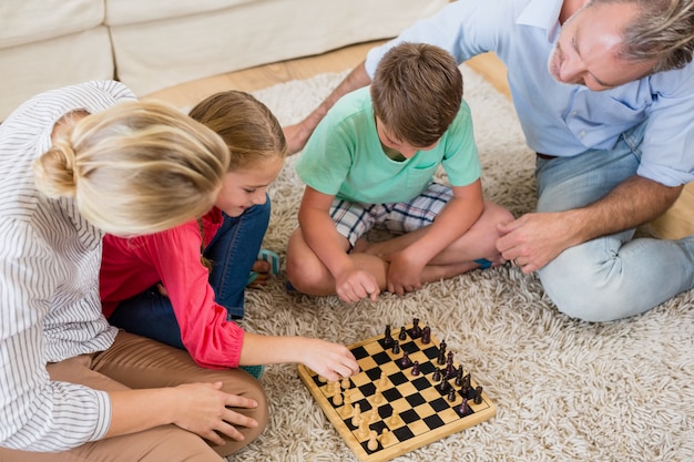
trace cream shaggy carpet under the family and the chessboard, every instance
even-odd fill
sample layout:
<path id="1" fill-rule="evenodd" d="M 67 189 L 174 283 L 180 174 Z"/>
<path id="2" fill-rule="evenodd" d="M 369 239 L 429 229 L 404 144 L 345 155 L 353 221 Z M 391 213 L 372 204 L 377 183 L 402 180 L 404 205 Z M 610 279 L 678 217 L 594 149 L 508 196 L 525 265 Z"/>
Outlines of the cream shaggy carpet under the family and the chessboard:
<path id="1" fill-rule="evenodd" d="M 533 158 L 511 104 L 467 68 L 489 198 L 519 215 L 534 207 Z M 318 104 L 341 75 L 263 90 L 283 124 Z M 284 256 L 303 186 L 294 158 L 272 188 L 265 246 Z M 560 315 L 533 276 L 511 267 L 473 271 L 398 298 L 344 305 L 285 290 L 284 273 L 251 290 L 249 331 L 353 343 L 419 317 L 472 369 L 498 405 L 490 421 L 397 461 L 694 461 L 694 310 L 684 294 L 651 312 L 591 325 Z M 656 288 L 644 288 L 644 290 Z M 233 460 L 353 461 L 300 382 L 295 365 L 271 366 L 265 433 Z"/>

